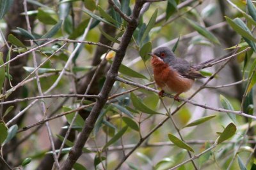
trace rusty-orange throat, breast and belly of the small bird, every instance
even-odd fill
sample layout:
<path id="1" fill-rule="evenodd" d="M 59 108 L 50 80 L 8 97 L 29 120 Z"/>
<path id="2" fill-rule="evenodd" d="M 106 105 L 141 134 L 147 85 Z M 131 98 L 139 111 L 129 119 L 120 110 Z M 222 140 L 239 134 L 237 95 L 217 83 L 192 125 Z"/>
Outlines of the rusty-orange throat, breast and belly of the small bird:
<path id="1" fill-rule="evenodd" d="M 177 71 L 156 57 L 152 58 L 151 64 L 157 85 L 166 92 L 186 92 L 194 83 L 194 80 L 180 76 Z"/>

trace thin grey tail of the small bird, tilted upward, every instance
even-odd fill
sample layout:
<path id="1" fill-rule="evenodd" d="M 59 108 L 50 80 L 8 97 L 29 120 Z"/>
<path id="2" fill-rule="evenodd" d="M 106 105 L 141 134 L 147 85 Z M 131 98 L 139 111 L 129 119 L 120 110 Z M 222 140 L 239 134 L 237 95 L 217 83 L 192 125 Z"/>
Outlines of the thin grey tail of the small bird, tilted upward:
<path id="1" fill-rule="evenodd" d="M 220 57 L 218 59 L 206 60 L 206 61 L 201 62 L 200 64 L 196 64 L 192 67 L 195 68 L 196 70 L 204 69 L 206 67 L 211 67 L 211 66 L 214 66 L 215 64 L 218 64 L 219 62 L 223 62 L 227 59 L 230 59 L 230 57 L 228 57 L 230 55 L 232 55 L 232 53 L 228 53 L 227 55 L 224 55 L 223 57 Z"/>

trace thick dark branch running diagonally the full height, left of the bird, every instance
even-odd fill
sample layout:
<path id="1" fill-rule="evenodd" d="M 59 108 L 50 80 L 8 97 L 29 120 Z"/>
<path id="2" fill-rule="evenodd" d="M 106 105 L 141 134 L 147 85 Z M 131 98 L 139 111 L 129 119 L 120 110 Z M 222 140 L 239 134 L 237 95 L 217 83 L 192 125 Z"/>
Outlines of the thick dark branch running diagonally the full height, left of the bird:
<path id="1" fill-rule="evenodd" d="M 124 59 L 125 51 L 127 49 L 127 46 L 129 45 L 129 42 L 131 41 L 132 34 L 138 25 L 138 16 L 140 14 L 142 6 L 143 1 L 136 1 L 134 10 L 132 11 L 131 22 L 129 22 L 129 24 L 127 25 L 127 29 L 122 36 L 122 41 L 116 52 L 115 59 L 113 60 L 113 64 L 108 71 L 104 86 L 100 91 L 99 99 L 97 99 L 95 105 L 93 106 L 89 117 L 86 119 L 85 125 L 81 134 L 79 135 L 79 138 L 70 150 L 68 158 L 64 162 L 61 169 L 72 169 L 74 163 L 82 153 L 83 146 L 89 138 L 90 133 L 92 132 L 93 126 L 97 118 L 99 117 L 100 111 L 104 107 L 104 104 L 106 104 L 106 102 L 108 101 L 109 92 L 112 89 L 113 84 L 115 83 L 115 77 L 118 74 L 118 69 L 122 63 L 122 60 Z"/>

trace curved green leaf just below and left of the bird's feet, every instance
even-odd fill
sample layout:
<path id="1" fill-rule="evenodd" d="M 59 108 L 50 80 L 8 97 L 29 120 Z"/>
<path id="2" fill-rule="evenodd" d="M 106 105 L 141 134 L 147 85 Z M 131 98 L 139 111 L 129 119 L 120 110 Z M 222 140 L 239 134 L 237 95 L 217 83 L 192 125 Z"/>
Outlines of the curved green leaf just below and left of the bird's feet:
<path id="1" fill-rule="evenodd" d="M 154 115 L 154 114 L 163 115 L 162 113 L 156 112 L 148 108 L 148 106 L 146 106 L 134 93 L 131 93 L 131 100 L 134 108 L 136 108 L 137 110 L 140 110 L 144 113 L 148 113 L 150 115 Z"/>

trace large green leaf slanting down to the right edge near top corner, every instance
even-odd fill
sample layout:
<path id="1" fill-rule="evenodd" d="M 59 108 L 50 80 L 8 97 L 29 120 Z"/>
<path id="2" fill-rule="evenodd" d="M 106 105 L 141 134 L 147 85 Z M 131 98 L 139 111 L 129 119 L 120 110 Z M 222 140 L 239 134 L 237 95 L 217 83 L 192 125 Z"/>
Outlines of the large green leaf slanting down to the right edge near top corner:
<path id="1" fill-rule="evenodd" d="M 243 27 L 241 27 L 240 25 L 238 25 L 238 24 L 236 23 L 236 22 L 239 22 L 239 20 L 241 20 L 241 19 L 236 18 L 236 19 L 235 19 L 236 22 L 235 22 L 234 20 L 228 18 L 227 16 L 225 16 L 225 18 L 226 18 L 228 24 L 229 24 L 229 25 L 234 29 L 234 31 L 236 31 L 238 34 L 240 34 L 240 35 L 243 36 L 244 38 L 248 38 L 248 39 L 250 39 L 250 40 L 252 40 L 252 41 L 254 41 L 254 42 L 256 41 L 256 39 L 253 37 L 252 32 L 250 32 L 249 29 L 244 30 Z M 242 22 L 243 22 L 243 21 L 242 21 Z M 248 30 L 249 30 L 249 31 L 248 31 Z"/>

